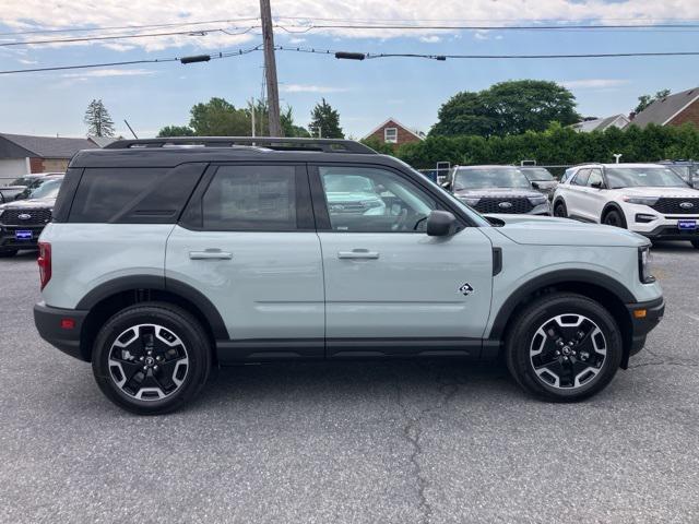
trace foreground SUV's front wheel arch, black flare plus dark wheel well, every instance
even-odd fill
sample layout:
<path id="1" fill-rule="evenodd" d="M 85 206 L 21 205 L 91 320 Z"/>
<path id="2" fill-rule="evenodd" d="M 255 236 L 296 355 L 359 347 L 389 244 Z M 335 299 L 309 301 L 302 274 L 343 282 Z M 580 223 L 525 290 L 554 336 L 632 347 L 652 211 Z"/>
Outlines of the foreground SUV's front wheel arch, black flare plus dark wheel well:
<path id="1" fill-rule="evenodd" d="M 520 286 L 498 310 L 488 340 L 501 343 L 520 311 L 534 299 L 555 291 L 576 293 L 597 301 L 619 326 L 624 343 L 621 368 L 626 369 L 631 352 L 632 323 L 627 303 L 636 302 L 633 294 L 614 278 L 589 270 L 559 270 L 540 275 Z"/>

